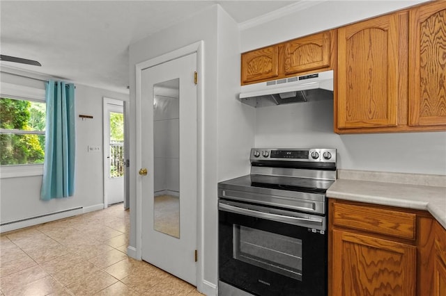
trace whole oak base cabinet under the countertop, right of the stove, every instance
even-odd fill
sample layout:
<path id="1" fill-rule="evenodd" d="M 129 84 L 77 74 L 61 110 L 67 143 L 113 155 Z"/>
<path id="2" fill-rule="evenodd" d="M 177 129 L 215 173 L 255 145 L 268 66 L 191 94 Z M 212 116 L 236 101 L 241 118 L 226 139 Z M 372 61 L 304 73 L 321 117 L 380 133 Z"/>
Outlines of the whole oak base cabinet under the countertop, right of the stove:
<path id="1" fill-rule="evenodd" d="M 446 231 L 429 213 L 328 206 L 329 295 L 446 295 Z"/>

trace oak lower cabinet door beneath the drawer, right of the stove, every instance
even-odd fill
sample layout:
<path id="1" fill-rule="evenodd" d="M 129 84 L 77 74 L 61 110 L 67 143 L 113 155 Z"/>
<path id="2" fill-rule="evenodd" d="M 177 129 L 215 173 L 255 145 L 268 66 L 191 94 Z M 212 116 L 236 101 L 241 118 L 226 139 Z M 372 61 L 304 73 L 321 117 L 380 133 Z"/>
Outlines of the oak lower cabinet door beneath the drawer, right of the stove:
<path id="1" fill-rule="evenodd" d="M 332 233 L 332 295 L 415 295 L 416 247 Z"/>

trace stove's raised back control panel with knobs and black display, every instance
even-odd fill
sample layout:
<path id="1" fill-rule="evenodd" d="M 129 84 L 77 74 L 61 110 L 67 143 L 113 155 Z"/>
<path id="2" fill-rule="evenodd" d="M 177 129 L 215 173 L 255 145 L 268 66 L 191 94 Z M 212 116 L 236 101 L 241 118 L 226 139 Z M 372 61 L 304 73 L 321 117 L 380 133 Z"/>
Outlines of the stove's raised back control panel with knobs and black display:
<path id="1" fill-rule="evenodd" d="M 336 149 L 311 148 L 311 149 L 276 149 L 276 148 L 252 148 L 250 161 L 317 161 L 324 163 L 336 163 Z"/>

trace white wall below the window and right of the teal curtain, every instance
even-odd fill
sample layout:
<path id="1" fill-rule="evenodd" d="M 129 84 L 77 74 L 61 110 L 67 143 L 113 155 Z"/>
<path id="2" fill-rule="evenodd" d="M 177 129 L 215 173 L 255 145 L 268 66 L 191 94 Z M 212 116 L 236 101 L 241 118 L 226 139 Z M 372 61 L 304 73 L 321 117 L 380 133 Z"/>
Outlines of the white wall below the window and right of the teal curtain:
<path id="1" fill-rule="evenodd" d="M 31 83 L 32 84 L 32 83 Z M 128 94 L 76 85 L 76 177 L 75 195 L 64 199 L 40 200 L 42 176 L 0 179 L 0 221 L 8 222 L 83 206 L 86 211 L 103 208 L 102 97 L 128 100 Z M 80 120 L 79 114 L 92 115 Z M 88 145 L 101 147 L 99 153 L 87 152 Z"/>

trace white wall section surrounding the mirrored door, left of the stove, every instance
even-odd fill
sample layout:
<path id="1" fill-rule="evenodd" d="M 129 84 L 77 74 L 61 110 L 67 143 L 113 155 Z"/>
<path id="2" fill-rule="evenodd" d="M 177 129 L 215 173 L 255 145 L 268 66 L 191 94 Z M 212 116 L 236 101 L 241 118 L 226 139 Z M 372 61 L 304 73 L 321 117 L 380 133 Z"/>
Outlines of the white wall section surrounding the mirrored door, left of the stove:
<path id="1" fill-rule="evenodd" d="M 140 63 L 175 49 L 203 40 L 203 72 L 199 83 L 203 85 L 201 130 L 199 143 L 202 186 L 201 200 L 202 245 L 199 246 L 198 288 L 207 295 L 215 295 L 217 285 L 217 182 L 229 176 L 249 172 L 247 151 L 254 144 L 254 110 L 240 104 L 240 39 L 238 26 L 222 10 L 213 6 L 185 22 L 130 45 L 130 100 L 135 100 L 134 67 Z M 132 108 L 132 118 L 136 114 Z M 132 122 L 134 131 L 136 123 Z M 131 142 L 136 135 L 131 134 Z M 131 151 L 135 159 L 135 148 Z M 131 173 L 130 204 L 136 202 L 137 167 Z M 131 229 L 136 223 L 136 208 L 130 211 Z M 136 233 L 132 231 L 130 247 L 136 247 Z M 200 278 L 201 277 L 201 278 Z"/>

